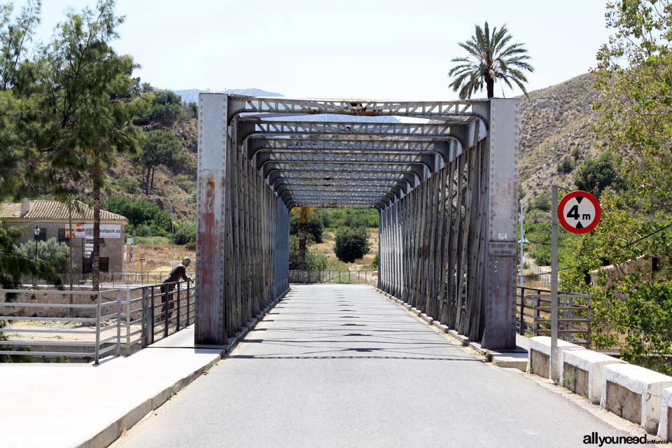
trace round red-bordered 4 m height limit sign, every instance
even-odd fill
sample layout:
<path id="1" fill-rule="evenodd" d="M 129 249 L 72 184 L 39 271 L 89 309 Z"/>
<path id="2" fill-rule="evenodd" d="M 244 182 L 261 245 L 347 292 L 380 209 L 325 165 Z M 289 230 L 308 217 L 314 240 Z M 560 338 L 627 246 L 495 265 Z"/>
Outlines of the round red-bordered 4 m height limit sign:
<path id="1" fill-rule="evenodd" d="M 602 207 L 597 198 L 587 191 L 573 191 L 558 204 L 558 220 L 568 232 L 582 235 L 597 227 Z"/>

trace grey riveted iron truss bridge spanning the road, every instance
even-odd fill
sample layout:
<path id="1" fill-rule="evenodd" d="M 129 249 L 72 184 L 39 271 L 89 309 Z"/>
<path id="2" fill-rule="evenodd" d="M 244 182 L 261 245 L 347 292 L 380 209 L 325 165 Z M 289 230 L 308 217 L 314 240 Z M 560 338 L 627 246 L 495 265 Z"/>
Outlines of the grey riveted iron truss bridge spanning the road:
<path id="1" fill-rule="evenodd" d="M 513 348 L 518 117 L 515 99 L 201 94 L 197 342 L 225 344 L 286 292 L 291 209 L 374 207 L 378 287 Z"/>

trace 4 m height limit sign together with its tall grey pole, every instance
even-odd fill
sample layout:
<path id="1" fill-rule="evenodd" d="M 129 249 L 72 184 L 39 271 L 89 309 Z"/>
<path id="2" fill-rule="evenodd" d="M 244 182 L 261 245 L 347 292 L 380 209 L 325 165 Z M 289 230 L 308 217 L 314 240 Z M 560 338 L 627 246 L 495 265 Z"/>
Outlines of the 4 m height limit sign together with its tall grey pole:
<path id="1" fill-rule="evenodd" d="M 558 203 L 558 186 L 551 189 L 551 379 L 558 381 L 558 223 L 568 232 L 583 235 L 597 227 L 602 208 L 587 191 L 573 191 Z"/>

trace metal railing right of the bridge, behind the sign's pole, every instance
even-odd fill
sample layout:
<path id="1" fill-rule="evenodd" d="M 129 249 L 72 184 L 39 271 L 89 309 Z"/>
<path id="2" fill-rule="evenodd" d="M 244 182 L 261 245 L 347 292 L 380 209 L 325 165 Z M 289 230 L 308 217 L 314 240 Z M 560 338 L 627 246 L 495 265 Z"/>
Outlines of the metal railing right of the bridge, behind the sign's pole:
<path id="1" fill-rule="evenodd" d="M 516 327 L 520 335 L 551 334 L 551 291 L 517 287 Z M 558 293 L 558 334 L 560 339 L 591 346 L 591 297 L 577 293 Z"/>

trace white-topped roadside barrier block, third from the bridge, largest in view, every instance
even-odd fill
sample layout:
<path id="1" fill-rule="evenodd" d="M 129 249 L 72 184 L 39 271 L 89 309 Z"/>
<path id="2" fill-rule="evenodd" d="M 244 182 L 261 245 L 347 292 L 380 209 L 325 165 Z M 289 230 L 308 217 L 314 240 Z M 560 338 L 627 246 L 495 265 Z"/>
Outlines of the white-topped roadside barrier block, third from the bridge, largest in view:
<path id="1" fill-rule="evenodd" d="M 605 365 L 600 405 L 657 434 L 663 389 L 671 386 L 672 377 L 638 365 Z"/>

